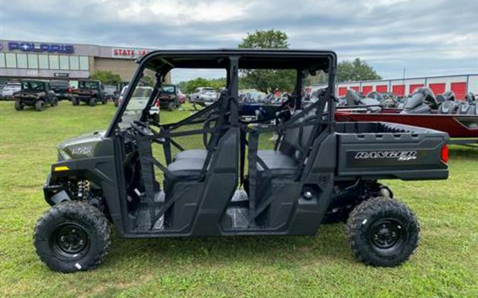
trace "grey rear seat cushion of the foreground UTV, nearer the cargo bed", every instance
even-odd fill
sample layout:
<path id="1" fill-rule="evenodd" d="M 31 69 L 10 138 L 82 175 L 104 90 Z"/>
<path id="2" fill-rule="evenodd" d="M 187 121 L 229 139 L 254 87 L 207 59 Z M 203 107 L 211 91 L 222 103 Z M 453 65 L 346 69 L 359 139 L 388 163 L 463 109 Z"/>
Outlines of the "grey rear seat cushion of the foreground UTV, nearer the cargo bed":
<path id="1" fill-rule="evenodd" d="M 271 170 L 273 176 L 295 174 L 295 170 L 299 165 L 293 157 L 275 150 L 258 150 L 257 155 Z M 257 165 L 257 169 L 259 172 L 264 171 L 264 168 L 260 164 Z"/>

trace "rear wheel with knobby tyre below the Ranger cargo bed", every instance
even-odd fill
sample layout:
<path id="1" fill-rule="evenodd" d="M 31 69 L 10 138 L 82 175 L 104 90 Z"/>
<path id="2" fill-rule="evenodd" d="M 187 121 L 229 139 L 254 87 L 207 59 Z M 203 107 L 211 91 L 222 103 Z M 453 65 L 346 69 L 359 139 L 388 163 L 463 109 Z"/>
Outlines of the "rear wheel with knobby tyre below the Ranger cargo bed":
<path id="1" fill-rule="evenodd" d="M 348 242 L 355 256 L 372 266 L 394 267 L 414 254 L 419 244 L 414 213 L 393 198 L 371 198 L 347 220 Z"/>

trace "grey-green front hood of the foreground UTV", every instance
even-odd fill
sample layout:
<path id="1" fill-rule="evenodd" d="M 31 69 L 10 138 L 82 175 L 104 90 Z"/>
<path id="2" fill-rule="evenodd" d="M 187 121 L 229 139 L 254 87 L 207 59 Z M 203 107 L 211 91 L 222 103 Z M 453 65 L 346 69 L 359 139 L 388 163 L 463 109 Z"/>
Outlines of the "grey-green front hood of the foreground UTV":
<path id="1" fill-rule="evenodd" d="M 79 159 L 101 155 L 101 141 L 105 131 L 95 131 L 70 138 L 58 145 L 59 160 Z"/>

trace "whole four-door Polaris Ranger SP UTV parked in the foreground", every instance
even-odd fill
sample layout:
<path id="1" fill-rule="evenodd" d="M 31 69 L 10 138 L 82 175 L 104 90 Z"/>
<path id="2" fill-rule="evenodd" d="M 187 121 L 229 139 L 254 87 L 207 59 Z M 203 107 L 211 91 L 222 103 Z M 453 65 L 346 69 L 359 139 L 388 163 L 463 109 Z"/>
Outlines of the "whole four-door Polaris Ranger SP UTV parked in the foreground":
<path id="1" fill-rule="evenodd" d="M 390 123 L 335 123 L 334 52 L 171 50 L 150 52 L 138 63 L 108 129 L 59 145 L 44 186 L 52 207 L 34 234 L 40 259 L 52 270 L 98 266 L 108 254 L 110 223 L 119 237 L 219 237 L 312 235 L 321 222 L 346 220 L 360 261 L 398 266 L 413 254 L 419 222 L 377 179 L 446 179 L 448 135 Z M 227 88 L 217 102 L 177 123 L 149 121 L 172 68 L 225 69 Z M 297 71 L 288 121 L 240 120 L 239 71 L 252 68 Z M 328 88 L 301 109 L 302 78 L 317 71 L 328 73 Z M 142 101 L 137 87 L 152 74 L 154 91 Z M 274 148 L 259 150 L 273 132 Z"/>

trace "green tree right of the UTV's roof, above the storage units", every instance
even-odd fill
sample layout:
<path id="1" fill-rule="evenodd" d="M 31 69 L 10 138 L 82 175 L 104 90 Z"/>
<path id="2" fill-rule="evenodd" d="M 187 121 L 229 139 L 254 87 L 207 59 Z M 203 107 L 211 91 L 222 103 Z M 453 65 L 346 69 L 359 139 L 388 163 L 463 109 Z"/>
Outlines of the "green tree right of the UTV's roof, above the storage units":
<path id="1" fill-rule="evenodd" d="M 341 61 L 337 64 L 337 81 L 378 80 L 380 77 L 367 61 L 355 58 L 353 61 Z"/>

